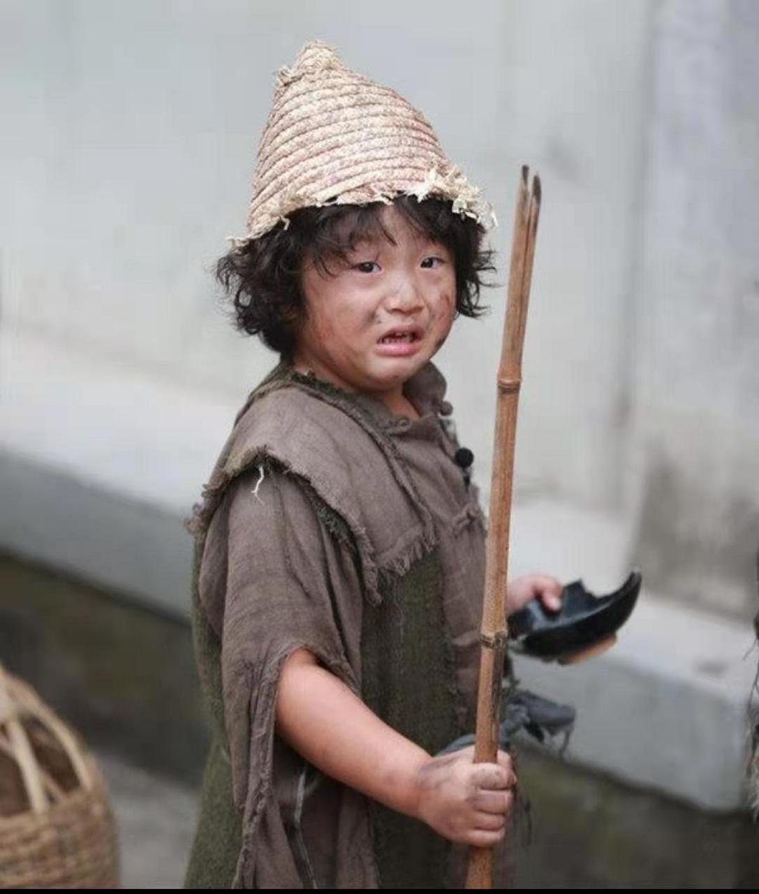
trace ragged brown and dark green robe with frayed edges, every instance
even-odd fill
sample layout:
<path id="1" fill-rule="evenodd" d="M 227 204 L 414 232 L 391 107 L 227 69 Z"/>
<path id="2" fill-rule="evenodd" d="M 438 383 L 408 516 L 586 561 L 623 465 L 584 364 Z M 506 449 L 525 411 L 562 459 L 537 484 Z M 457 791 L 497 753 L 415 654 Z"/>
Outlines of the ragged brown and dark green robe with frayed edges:
<path id="1" fill-rule="evenodd" d="M 443 375 L 429 363 L 404 392 L 421 418 L 280 365 L 196 510 L 193 627 L 215 741 L 189 887 L 462 881 L 465 848 L 274 733 L 279 674 L 301 646 L 430 754 L 474 729 L 482 513 L 452 460 Z"/>

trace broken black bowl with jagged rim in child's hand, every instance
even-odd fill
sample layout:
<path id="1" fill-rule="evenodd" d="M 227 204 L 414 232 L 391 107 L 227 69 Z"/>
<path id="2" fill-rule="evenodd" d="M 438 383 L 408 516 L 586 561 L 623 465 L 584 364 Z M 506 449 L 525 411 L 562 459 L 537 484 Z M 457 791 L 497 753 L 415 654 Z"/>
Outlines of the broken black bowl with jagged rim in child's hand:
<path id="1" fill-rule="evenodd" d="M 628 620 L 640 592 L 639 571 L 633 571 L 619 590 L 605 596 L 589 593 L 582 580 L 564 587 L 561 611 L 546 611 L 538 599 L 509 619 L 510 637 L 517 651 L 544 661 L 581 652 L 616 633 Z"/>

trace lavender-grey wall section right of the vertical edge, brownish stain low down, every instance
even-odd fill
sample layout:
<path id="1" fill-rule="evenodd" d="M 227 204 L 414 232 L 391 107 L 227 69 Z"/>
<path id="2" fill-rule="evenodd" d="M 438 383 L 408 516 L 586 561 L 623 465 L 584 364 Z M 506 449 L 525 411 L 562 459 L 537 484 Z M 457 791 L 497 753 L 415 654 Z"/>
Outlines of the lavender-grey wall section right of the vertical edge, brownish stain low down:
<path id="1" fill-rule="evenodd" d="M 652 586 L 755 611 L 759 4 L 654 21 L 631 431 L 632 549 Z"/>

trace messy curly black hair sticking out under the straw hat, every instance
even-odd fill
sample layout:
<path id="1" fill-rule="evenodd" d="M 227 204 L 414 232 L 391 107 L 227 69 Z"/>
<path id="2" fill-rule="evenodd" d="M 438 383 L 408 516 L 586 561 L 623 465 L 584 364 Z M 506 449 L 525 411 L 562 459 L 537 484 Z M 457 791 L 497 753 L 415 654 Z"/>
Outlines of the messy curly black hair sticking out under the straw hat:
<path id="1" fill-rule="evenodd" d="M 482 316 L 487 308 L 480 304 L 480 288 L 488 284 L 482 274 L 495 270 L 493 250 L 483 247 L 482 224 L 454 212 L 451 202 L 441 198 L 420 202 L 401 195 L 393 205 L 417 232 L 451 251 L 457 316 Z M 383 207 L 383 202 L 373 202 L 301 208 L 290 215 L 286 228 L 278 224 L 220 258 L 216 279 L 232 299 L 237 328 L 258 335 L 268 348 L 290 358 L 306 312 L 300 274 L 307 255 L 329 275 L 330 262 L 345 262 L 361 240 L 382 237 L 392 242 L 382 223 Z"/>

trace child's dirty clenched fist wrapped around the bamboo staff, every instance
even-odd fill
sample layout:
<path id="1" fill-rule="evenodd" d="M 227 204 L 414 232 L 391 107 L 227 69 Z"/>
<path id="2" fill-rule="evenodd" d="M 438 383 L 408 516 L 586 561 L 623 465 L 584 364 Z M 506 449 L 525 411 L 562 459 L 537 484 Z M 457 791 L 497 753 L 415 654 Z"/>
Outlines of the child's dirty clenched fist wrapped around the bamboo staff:
<path id="1" fill-rule="evenodd" d="M 474 746 L 433 757 L 417 772 L 417 818 L 439 835 L 476 848 L 492 848 L 506 834 L 517 776 L 511 758 L 472 763 Z"/>

